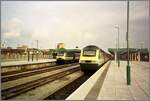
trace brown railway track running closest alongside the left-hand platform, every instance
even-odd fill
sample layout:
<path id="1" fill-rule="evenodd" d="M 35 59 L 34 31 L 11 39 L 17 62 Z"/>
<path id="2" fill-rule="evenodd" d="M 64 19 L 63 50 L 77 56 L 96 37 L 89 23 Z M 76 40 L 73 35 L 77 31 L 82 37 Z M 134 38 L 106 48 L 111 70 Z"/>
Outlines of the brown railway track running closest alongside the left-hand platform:
<path id="1" fill-rule="evenodd" d="M 9 73 L 5 73 L 5 75 L 3 74 L 1 76 L 1 81 L 2 82 L 7 82 L 7 81 L 11 81 L 11 80 L 16 80 L 16 79 L 19 79 L 19 78 L 22 78 L 22 77 L 41 74 L 41 73 L 61 69 L 61 68 L 64 68 L 66 66 L 76 65 L 76 64 L 77 63 L 65 64 L 65 65 L 54 65 L 52 67 L 34 68 L 34 69 L 26 70 L 26 71 L 9 72 Z"/>

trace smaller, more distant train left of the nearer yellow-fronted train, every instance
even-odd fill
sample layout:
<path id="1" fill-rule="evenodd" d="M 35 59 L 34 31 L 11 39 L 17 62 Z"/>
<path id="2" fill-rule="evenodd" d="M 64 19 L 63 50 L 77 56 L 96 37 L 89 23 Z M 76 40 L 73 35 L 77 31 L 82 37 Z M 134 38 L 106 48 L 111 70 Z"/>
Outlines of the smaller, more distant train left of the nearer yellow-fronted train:
<path id="1" fill-rule="evenodd" d="M 81 50 L 79 49 L 64 49 L 57 52 L 56 63 L 66 64 L 79 62 Z"/>

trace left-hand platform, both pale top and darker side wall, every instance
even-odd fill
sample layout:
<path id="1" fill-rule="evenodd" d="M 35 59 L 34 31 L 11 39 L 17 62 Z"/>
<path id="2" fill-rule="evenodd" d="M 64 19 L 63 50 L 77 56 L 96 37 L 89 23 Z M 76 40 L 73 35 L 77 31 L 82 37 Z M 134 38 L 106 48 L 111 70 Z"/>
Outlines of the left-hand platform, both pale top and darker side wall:
<path id="1" fill-rule="evenodd" d="M 41 59 L 34 61 L 7 61 L 1 62 L 1 73 L 16 71 L 16 70 L 25 70 L 32 68 L 40 68 L 45 66 L 54 65 L 56 59 Z"/>

